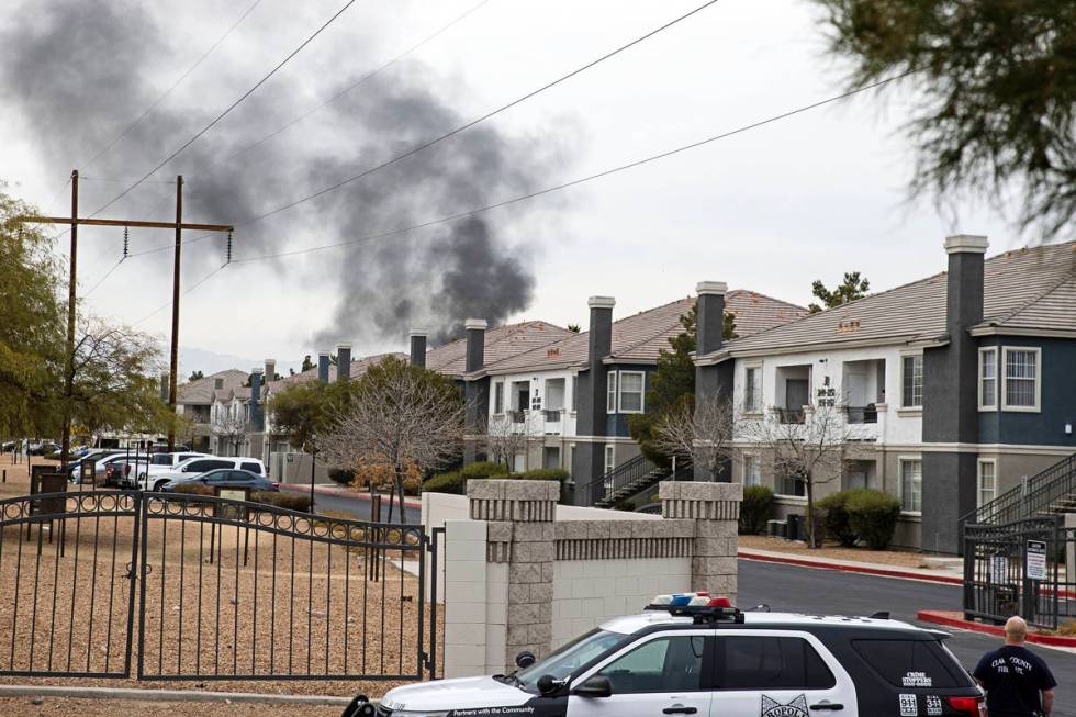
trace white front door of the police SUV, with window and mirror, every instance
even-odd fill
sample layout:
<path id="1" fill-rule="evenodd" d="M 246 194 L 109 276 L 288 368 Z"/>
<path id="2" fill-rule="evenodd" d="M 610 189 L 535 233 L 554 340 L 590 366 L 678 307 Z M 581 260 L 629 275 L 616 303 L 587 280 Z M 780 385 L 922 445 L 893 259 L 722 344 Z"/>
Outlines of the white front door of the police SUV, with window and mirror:
<path id="1" fill-rule="evenodd" d="M 572 681 L 568 717 L 709 717 L 708 640 L 714 634 L 655 632 L 623 648 Z M 594 694 L 604 680 L 608 695 Z"/>

